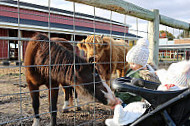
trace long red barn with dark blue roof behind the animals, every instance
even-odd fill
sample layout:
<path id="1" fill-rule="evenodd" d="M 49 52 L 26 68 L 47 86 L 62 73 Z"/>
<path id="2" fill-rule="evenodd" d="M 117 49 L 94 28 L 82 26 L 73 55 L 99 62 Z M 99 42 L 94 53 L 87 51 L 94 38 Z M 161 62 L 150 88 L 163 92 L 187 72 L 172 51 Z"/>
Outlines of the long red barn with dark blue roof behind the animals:
<path id="1" fill-rule="evenodd" d="M 0 59 L 18 60 L 19 34 L 22 38 L 20 39 L 22 40 L 21 59 L 24 57 L 28 42 L 23 39 L 28 38 L 29 40 L 36 32 L 51 31 L 51 37 L 62 37 L 67 40 L 73 40 L 74 34 L 75 40 L 80 41 L 94 32 L 110 35 L 110 24 L 112 24 L 112 37 L 123 38 L 125 36 L 132 42 L 137 39 L 136 35 L 128 33 L 129 25 L 83 13 L 74 14 L 72 11 L 56 8 L 51 8 L 49 18 L 48 9 L 45 6 L 25 2 L 19 2 L 18 9 L 17 1 L 0 1 Z"/>

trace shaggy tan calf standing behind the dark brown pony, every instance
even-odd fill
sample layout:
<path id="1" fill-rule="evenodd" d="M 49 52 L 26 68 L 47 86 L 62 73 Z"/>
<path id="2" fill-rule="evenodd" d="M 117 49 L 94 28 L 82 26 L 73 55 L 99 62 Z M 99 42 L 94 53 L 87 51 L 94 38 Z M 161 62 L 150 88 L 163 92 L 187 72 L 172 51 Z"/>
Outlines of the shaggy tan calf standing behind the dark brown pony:
<path id="1" fill-rule="evenodd" d="M 128 63 L 125 61 L 128 45 L 124 40 L 114 40 L 106 36 L 91 35 L 82 40 L 81 43 L 78 43 L 77 46 L 85 51 L 89 62 L 95 61 L 97 63 L 100 75 L 107 81 L 111 79 L 110 75 L 115 71 L 121 77 L 125 75 L 129 68 Z"/>

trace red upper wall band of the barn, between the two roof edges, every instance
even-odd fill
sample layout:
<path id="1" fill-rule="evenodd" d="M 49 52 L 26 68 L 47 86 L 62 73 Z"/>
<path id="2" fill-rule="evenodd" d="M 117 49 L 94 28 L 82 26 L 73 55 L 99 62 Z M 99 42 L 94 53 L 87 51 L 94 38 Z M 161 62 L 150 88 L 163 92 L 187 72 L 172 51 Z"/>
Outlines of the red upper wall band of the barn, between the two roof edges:
<path id="1" fill-rule="evenodd" d="M 16 18 L 18 18 L 17 11 L 18 9 L 16 7 L 0 5 L 0 17 L 2 18 L 11 17 L 11 18 L 14 18 L 14 20 L 16 20 Z M 27 9 L 21 8 L 19 16 L 20 16 L 20 19 L 26 19 L 27 21 L 33 20 L 33 21 L 40 21 L 41 23 L 46 22 L 47 23 L 46 25 L 48 26 L 49 15 L 46 12 L 27 10 Z M 73 22 L 73 17 L 60 15 L 60 14 L 54 14 L 54 13 L 51 13 L 50 22 L 56 23 L 56 24 L 65 24 L 69 26 L 72 26 L 74 23 L 76 26 L 79 26 L 79 27 L 94 28 L 93 20 L 76 17 Z M 22 23 L 22 20 L 21 20 L 21 23 Z M 95 21 L 95 28 L 101 29 L 101 30 L 111 29 L 110 23 L 105 23 L 105 22 L 100 22 L 100 21 Z M 128 27 L 125 28 L 125 26 L 120 26 L 116 24 L 112 25 L 112 30 L 116 32 L 128 33 Z"/>

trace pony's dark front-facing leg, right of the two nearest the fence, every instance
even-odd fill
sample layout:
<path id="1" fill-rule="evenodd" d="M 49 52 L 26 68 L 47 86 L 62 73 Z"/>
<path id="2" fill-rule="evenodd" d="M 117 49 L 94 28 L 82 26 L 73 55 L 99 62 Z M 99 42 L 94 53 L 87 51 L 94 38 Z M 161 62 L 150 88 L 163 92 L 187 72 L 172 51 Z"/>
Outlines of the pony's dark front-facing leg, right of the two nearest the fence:
<path id="1" fill-rule="evenodd" d="M 51 113 L 50 126 L 56 125 L 57 99 L 58 99 L 59 86 L 57 86 L 57 87 L 56 87 L 56 89 L 51 89 L 51 91 L 49 90 L 49 105 L 50 105 L 49 111 Z M 50 99 L 50 95 L 51 95 L 51 99 Z"/>

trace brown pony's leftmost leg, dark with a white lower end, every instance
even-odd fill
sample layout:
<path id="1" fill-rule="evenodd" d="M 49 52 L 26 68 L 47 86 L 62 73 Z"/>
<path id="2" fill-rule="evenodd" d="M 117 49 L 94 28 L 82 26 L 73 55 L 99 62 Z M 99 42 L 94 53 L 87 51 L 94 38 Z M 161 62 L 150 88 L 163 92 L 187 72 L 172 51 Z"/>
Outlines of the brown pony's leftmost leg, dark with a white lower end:
<path id="1" fill-rule="evenodd" d="M 32 84 L 30 81 L 28 81 L 28 87 L 32 98 L 32 107 L 35 116 L 32 126 L 40 126 L 40 116 L 39 116 L 40 101 L 39 101 L 39 91 L 38 91 L 39 86 L 36 86 Z"/>

